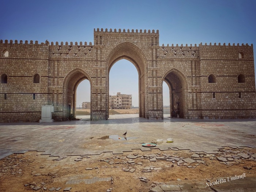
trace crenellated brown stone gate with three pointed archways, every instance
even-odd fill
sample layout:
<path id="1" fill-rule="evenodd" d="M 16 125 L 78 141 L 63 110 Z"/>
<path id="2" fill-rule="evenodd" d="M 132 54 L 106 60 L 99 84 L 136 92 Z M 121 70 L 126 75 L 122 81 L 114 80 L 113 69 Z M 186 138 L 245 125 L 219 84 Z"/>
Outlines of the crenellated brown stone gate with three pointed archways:
<path id="1" fill-rule="evenodd" d="M 256 118 L 253 45 L 159 45 L 159 31 L 94 29 L 89 42 L 0 41 L 0 122 L 39 121 L 41 105 L 54 120 L 75 116 L 76 89 L 91 87 L 91 120 L 109 117 L 109 71 L 127 59 L 139 74 L 139 117 Z"/>

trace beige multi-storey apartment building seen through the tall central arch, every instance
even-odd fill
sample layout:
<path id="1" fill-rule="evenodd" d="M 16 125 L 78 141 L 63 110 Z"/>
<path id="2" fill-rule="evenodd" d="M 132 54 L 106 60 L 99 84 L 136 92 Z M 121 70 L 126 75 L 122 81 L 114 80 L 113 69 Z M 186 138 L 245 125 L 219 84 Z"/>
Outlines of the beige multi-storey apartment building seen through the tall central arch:
<path id="1" fill-rule="evenodd" d="M 109 109 L 131 109 L 132 95 L 121 94 L 109 95 Z"/>

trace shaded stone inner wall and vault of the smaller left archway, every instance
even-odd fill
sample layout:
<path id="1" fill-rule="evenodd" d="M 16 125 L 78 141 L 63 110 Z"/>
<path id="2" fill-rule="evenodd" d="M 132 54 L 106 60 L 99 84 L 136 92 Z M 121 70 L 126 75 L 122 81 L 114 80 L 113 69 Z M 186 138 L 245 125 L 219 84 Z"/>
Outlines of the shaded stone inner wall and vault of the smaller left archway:
<path id="1" fill-rule="evenodd" d="M 76 117 L 76 94 L 78 85 L 83 80 L 89 80 L 91 84 L 91 80 L 89 75 L 86 74 L 82 69 L 75 69 L 68 73 L 68 75 L 64 78 L 64 85 L 63 85 L 63 103 L 64 108 L 63 112 L 66 118 L 74 118 Z M 91 86 L 90 86 L 90 93 L 91 93 Z M 91 94 L 90 94 L 91 95 Z M 91 102 L 91 97 L 90 97 Z M 91 114 L 91 109 L 90 109 Z M 91 118 L 91 117 L 90 117 Z"/>

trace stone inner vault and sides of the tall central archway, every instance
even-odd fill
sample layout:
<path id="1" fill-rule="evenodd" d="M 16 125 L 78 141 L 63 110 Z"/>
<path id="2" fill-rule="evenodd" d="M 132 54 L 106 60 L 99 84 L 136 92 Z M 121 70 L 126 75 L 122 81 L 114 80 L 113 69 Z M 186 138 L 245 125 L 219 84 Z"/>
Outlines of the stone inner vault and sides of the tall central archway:
<path id="1" fill-rule="evenodd" d="M 117 61 L 121 59 L 126 59 L 130 61 L 137 69 L 138 76 L 139 76 L 139 117 L 146 117 L 146 111 L 147 106 L 145 105 L 145 101 L 147 100 L 146 93 L 146 85 L 145 85 L 145 74 L 147 72 L 146 68 L 146 57 L 143 51 L 136 46 L 135 44 L 132 44 L 131 42 L 123 42 L 116 47 L 114 47 L 112 50 L 110 50 L 108 56 L 106 57 L 106 74 L 107 76 L 107 82 L 109 82 L 109 72 L 111 67 L 116 63 Z M 109 83 L 107 85 L 107 99 L 109 99 Z M 107 102 L 108 103 L 108 102 Z"/>

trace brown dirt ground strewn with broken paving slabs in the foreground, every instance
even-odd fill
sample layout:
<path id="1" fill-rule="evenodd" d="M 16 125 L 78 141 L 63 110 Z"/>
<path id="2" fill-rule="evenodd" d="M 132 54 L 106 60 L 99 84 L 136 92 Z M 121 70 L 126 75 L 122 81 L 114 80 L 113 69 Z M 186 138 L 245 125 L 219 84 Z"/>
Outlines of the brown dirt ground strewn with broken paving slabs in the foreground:
<path id="1" fill-rule="evenodd" d="M 239 156 L 241 153 L 252 156 L 245 159 Z M 72 192 L 106 192 L 110 188 L 120 192 L 147 192 L 153 182 L 196 184 L 201 181 L 206 182 L 208 178 L 216 179 L 243 173 L 248 177 L 255 177 L 256 158 L 253 157 L 255 153 L 256 149 L 247 147 L 240 149 L 226 147 L 213 156 L 188 150 L 157 149 L 151 152 L 133 150 L 121 155 L 102 153 L 83 157 L 49 157 L 40 155 L 42 152 L 29 151 L 0 160 L 0 188 L 2 192 L 34 191 L 33 187 L 41 187 L 38 191 L 44 191 L 44 187 L 47 190 L 61 187 L 60 191 L 72 187 Z M 230 159 L 221 162 L 217 157 Z M 187 158 L 196 162 L 186 164 Z M 230 162 L 234 164 L 226 164 Z M 146 177 L 146 182 L 141 181 L 140 177 Z M 108 178 L 113 179 L 113 184 Z M 87 184 L 89 181 L 95 182 Z"/>

